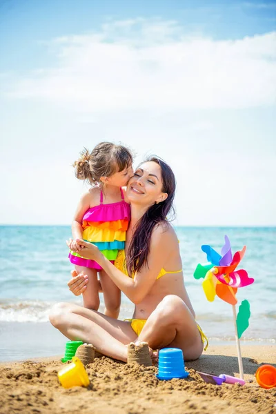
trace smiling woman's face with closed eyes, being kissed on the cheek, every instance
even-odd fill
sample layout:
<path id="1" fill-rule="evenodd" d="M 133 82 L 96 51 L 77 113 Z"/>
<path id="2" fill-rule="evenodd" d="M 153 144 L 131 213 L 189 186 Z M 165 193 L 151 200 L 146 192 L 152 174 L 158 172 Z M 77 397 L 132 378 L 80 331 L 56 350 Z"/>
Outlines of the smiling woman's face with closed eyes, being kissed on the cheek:
<path id="1" fill-rule="evenodd" d="M 163 193 L 161 168 L 155 161 L 141 164 L 128 181 L 127 196 L 130 203 L 152 206 L 164 201 L 168 195 Z"/>

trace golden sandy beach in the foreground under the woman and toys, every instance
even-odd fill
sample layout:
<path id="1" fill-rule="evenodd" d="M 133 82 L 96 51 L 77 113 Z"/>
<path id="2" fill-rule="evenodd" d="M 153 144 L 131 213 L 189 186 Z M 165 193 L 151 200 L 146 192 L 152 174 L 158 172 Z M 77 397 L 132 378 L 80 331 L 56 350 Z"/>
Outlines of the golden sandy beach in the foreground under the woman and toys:
<path id="1" fill-rule="evenodd" d="M 128 366 L 107 357 L 88 365 L 88 388 L 66 390 L 59 384 L 59 357 L 0 364 L 0 413 L 276 413 L 276 388 L 255 380 L 262 364 L 276 364 L 274 345 L 242 346 L 245 386 L 206 384 L 196 371 L 238 375 L 234 344 L 209 346 L 195 362 L 186 362 L 187 380 L 159 381 L 157 367 Z"/>

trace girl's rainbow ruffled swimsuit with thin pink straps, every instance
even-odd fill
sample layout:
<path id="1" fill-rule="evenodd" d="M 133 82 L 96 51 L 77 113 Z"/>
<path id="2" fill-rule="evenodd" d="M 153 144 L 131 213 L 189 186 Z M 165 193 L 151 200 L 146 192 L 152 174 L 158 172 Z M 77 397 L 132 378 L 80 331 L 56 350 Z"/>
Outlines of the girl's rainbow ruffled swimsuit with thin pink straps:
<path id="1" fill-rule="evenodd" d="M 82 219 L 83 240 L 98 246 L 101 253 L 112 263 L 117 258 L 118 251 L 124 249 L 130 221 L 130 205 L 124 199 L 123 190 L 120 190 L 121 201 L 112 204 L 103 204 L 101 192 L 99 206 L 89 208 Z M 85 259 L 72 250 L 69 259 L 72 264 L 101 270 L 95 260 Z"/>

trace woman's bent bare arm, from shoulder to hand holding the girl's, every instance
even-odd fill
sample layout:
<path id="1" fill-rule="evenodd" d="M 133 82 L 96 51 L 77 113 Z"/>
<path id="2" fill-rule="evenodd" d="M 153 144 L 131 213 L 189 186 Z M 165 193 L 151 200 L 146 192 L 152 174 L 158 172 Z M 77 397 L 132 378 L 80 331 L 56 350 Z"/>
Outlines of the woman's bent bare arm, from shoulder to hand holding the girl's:
<path id="1" fill-rule="evenodd" d="M 93 259 L 108 273 L 108 276 L 120 290 L 133 302 L 139 304 L 152 288 L 157 275 L 166 262 L 170 250 L 168 246 L 174 246 L 175 237 L 162 226 L 158 226 L 152 233 L 150 240 L 150 254 L 148 255 L 148 266 L 135 275 L 135 278 L 126 277 L 121 270 L 115 268 L 106 257 L 102 255 L 97 246 L 77 240 L 81 247 L 81 255 L 87 259 Z M 173 247 L 172 247 L 173 248 Z"/>

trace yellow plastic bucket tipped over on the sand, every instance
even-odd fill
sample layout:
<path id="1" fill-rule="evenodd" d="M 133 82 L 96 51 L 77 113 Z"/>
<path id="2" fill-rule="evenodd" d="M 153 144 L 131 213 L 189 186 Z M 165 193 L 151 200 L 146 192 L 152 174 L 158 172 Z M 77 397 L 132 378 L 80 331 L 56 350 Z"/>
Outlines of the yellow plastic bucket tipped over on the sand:
<path id="1" fill-rule="evenodd" d="M 59 381 L 64 388 L 71 386 L 88 386 L 90 381 L 83 363 L 77 357 L 72 357 L 71 364 L 64 366 L 58 373 Z"/>

